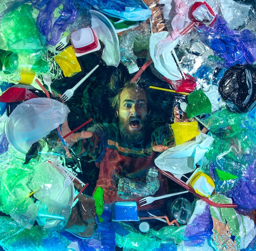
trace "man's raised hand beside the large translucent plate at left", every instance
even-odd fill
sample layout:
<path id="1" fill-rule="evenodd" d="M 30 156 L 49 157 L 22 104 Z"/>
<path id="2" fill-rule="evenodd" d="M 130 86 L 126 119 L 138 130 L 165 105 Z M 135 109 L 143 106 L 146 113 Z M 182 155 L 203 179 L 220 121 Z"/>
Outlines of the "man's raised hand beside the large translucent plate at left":
<path id="1" fill-rule="evenodd" d="M 61 125 L 61 131 L 62 131 L 62 136 L 64 137 L 68 133 L 71 132 L 70 127 L 68 125 L 67 120 Z M 91 138 L 92 133 L 90 131 L 82 131 L 79 133 L 72 133 L 65 138 L 65 141 L 69 144 L 70 147 L 79 140 Z"/>

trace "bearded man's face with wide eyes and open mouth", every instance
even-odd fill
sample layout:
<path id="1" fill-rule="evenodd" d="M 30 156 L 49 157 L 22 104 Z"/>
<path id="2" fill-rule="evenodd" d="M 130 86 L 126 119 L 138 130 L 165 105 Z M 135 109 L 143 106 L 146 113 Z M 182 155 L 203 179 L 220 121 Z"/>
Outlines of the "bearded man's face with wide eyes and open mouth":
<path id="1" fill-rule="evenodd" d="M 117 115 L 120 133 L 128 142 L 144 138 L 144 127 L 148 121 L 147 97 L 143 89 L 127 89 L 120 94 Z"/>

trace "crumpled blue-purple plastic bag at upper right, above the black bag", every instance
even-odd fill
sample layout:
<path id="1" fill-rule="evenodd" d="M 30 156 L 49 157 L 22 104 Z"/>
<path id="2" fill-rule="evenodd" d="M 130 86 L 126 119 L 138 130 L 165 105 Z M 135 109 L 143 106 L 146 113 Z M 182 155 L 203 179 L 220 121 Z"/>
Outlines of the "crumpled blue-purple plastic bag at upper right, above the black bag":
<path id="1" fill-rule="evenodd" d="M 200 40 L 213 49 L 214 56 L 225 60 L 225 67 L 252 64 L 256 60 L 256 38 L 251 31 L 231 30 L 225 20 L 218 15 L 211 27 L 201 25 L 197 30 L 200 32 Z"/>

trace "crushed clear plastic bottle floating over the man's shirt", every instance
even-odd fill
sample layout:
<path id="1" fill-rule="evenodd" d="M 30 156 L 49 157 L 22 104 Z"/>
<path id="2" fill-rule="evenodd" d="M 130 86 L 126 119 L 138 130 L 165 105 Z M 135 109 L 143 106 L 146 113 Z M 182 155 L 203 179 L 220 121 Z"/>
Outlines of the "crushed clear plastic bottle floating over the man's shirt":
<path id="1" fill-rule="evenodd" d="M 155 167 L 150 167 L 146 175 L 146 182 L 121 178 L 118 183 L 117 195 L 122 199 L 154 195 L 160 187 L 160 182 L 157 176 L 157 169 Z"/>

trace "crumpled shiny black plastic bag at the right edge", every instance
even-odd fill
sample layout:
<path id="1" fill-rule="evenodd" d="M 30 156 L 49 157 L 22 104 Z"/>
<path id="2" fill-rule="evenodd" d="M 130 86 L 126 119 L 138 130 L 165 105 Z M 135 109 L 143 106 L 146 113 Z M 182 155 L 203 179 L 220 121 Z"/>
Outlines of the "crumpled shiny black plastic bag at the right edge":
<path id="1" fill-rule="evenodd" d="M 231 111 L 247 112 L 256 105 L 256 67 L 236 64 L 225 71 L 219 92 Z"/>

